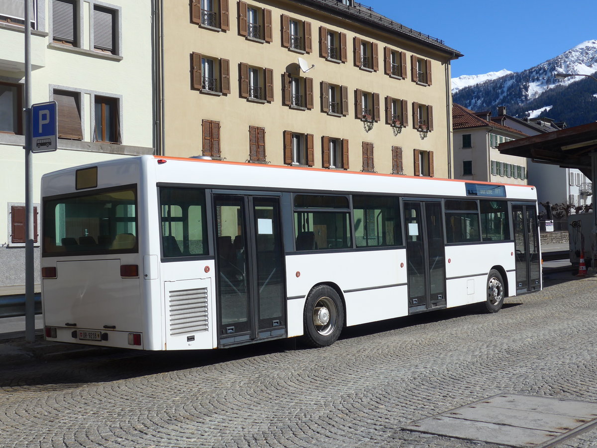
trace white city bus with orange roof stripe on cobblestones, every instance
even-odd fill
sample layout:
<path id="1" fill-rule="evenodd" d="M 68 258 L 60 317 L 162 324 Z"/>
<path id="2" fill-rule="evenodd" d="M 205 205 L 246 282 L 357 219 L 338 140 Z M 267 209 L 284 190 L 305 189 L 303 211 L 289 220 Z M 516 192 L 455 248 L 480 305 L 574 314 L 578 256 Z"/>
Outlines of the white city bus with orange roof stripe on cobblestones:
<path id="1" fill-rule="evenodd" d="M 541 289 L 534 187 L 142 156 L 42 178 L 47 340 L 223 348 Z"/>

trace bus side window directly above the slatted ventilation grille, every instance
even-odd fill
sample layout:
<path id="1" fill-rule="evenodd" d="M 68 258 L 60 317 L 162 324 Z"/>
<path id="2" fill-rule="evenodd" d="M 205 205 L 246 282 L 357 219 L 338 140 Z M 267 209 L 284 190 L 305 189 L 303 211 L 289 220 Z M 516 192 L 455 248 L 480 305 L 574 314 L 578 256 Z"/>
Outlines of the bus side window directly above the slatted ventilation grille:
<path id="1" fill-rule="evenodd" d="M 205 190 L 161 187 L 162 254 L 168 257 L 207 255 Z"/>

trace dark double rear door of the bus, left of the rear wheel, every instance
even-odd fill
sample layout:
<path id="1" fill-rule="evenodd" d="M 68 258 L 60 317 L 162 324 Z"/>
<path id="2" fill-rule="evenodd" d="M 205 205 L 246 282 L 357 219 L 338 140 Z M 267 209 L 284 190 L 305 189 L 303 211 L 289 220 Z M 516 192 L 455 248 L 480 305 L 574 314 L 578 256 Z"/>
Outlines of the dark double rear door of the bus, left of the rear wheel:
<path id="1" fill-rule="evenodd" d="M 279 198 L 214 195 L 219 346 L 286 335 Z"/>

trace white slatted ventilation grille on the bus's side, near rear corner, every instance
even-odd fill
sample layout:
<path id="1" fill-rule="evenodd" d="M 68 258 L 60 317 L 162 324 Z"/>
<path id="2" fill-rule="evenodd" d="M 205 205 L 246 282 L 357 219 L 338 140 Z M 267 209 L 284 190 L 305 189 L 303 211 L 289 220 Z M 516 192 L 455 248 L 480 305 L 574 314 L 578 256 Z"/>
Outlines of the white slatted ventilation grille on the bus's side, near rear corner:
<path id="1" fill-rule="evenodd" d="M 170 335 L 208 329 L 207 288 L 170 291 Z"/>

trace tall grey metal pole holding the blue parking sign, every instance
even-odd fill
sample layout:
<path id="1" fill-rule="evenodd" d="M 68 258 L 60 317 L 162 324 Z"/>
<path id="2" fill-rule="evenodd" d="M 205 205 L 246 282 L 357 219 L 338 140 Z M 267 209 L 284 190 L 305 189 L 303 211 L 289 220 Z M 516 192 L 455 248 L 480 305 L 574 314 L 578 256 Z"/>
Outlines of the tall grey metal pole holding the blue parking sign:
<path id="1" fill-rule="evenodd" d="M 25 0 L 25 340 L 35 342 L 33 290 L 33 154 L 31 153 L 31 19 Z"/>

